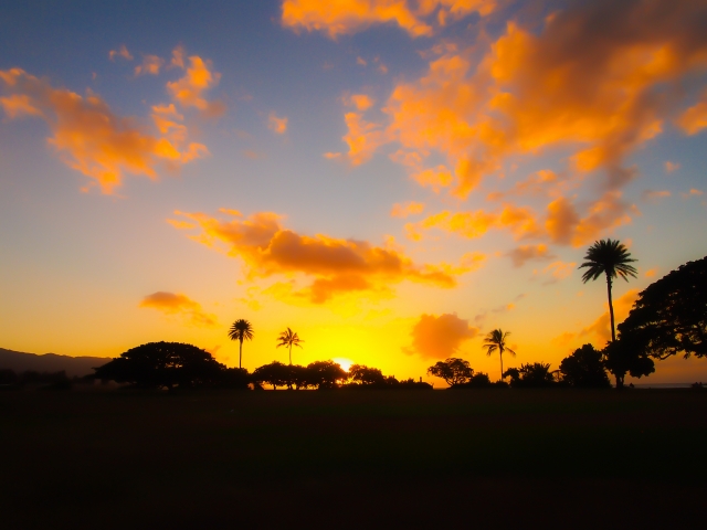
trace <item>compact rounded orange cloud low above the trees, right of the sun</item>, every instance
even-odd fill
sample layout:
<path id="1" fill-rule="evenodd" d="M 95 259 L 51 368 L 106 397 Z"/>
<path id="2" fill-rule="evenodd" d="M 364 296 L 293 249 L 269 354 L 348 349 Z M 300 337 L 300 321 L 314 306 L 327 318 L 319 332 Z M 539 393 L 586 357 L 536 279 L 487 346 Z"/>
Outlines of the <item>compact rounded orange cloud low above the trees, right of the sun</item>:
<path id="1" fill-rule="evenodd" d="M 404 348 L 408 354 L 418 353 L 425 359 L 447 359 L 458 354 L 460 347 L 478 335 L 478 328 L 468 325 L 456 314 L 422 315 L 410 333 L 412 346 Z"/>

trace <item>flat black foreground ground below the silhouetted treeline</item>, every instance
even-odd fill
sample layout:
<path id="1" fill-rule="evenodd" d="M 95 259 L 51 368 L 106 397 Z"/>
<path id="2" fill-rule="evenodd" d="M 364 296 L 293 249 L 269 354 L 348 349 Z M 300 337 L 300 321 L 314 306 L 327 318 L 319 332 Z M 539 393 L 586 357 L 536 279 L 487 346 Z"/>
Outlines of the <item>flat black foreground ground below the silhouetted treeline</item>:
<path id="1" fill-rule="evenodd" d="M 0 392 L 0 528 L 707 528 L 707 392 Z"/>

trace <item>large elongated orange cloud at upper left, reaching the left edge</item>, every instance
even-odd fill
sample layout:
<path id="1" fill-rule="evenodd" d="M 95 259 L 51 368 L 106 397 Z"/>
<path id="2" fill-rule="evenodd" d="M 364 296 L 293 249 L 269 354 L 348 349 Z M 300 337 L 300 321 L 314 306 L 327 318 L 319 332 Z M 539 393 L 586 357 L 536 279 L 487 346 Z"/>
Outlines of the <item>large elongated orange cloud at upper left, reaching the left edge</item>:
<path id="1" fill-rule="evenodd" d="M 186 141 L 186 128 L 155 118 L 161 136 L 136 120 L 116 116 L 92 92 L 86 96 L 54 88 L 23 70 L 0 72 L 12 94 L 1 103 L 10 118 L 42 117 L 53 136 L 49 144 L 68 167 L 94 179 L 104 193 L 120 186 L 126 173 L 157 178 L 160 165 L 178 167 L 208 153 L 200 144 Z"/>

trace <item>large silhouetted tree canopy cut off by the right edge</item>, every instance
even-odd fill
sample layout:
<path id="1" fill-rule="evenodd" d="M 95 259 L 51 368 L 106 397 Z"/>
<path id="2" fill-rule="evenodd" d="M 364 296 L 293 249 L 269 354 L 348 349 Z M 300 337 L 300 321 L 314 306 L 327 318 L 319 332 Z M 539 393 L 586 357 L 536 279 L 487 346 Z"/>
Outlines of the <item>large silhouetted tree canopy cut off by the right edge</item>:
<path id="1" fill-rule="evenodd" d="M 641 353 L 707 356 L 707 257 L 680 265 L 639 295 L 619 325 L 621 340 Z"/>

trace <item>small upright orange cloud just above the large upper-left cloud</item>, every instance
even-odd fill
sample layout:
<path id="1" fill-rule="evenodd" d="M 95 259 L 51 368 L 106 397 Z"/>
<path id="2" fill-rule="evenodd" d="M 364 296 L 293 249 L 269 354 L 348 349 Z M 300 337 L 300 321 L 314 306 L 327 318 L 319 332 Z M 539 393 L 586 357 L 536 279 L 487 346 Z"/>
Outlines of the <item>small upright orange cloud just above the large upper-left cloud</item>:
<path id="1" fill-rule="evenodd" d="M 211 61 L 204 61 L 198 55 L 189 57 L 189 66 L 184 65 L 183 49 L 177 47 L 172 52 L 172 64 L 186 70 L 182 78 L 167 83 L 167 92 L 181 107 L 196 107 L 207 116 L 220 116 L 225 112 L 225 105 L 220 102 L 209 102 L 204 92 L 219 84 L 221 74 L 212 71 Z"/>

